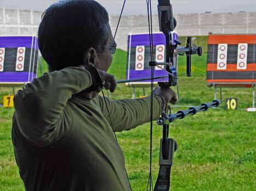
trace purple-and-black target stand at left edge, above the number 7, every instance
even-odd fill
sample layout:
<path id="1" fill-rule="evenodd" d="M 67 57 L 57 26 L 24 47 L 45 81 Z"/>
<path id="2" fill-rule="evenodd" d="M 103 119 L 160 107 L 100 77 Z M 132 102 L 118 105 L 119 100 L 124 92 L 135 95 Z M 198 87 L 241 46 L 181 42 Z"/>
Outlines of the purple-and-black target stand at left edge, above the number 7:
<path id="1" fill-rule="evenodd" d="M 1 87 L 12 87 L 15 94 L 14 87 L 23 87 L 36 78 L 38 61 L 35 36 L 0 36 Z"/>

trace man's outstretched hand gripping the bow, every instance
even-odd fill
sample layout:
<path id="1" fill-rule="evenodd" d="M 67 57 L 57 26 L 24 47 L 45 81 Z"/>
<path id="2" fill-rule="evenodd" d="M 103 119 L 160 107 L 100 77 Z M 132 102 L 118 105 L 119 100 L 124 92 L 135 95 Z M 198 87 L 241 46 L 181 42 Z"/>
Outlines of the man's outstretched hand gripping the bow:
<path id="1" fill-rule="evenodd" d="M 163 108 L 165 108 L 168 103 L 175 104 L 177 102 L 176 93 L 172 88 L 156 87 L 153 94 L 162 98 L 162 102 L 164 102 L 162 103 Z"/>

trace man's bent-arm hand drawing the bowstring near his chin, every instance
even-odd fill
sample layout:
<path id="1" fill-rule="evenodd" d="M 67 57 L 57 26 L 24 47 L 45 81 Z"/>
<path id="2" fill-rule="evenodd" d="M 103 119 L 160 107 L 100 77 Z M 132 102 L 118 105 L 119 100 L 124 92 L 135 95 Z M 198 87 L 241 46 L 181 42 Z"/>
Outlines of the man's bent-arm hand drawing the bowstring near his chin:
<path id="1" fill-rule="evenodd" d="M 98 69 L 97 69 L 98 70 Z M 98 70 L 101 80 L 103 81 L 103 86 L 105 89 L 109 89 L 113 93 L 116 89 L 115 76 L 107 74 L 104 70 Z"/>

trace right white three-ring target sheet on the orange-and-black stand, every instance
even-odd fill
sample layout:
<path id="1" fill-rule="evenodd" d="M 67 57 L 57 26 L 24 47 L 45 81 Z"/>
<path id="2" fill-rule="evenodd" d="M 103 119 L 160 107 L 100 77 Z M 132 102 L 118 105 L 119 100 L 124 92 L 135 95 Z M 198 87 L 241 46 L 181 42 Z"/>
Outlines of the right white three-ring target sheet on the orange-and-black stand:
<path id="1" fill-rule="evenodd" d="M 236 68 L 238 70 L 246 70 L 247 68 L 247 50 L 248 44 L 238 44 L 237 49 L 237 65 Z"/>

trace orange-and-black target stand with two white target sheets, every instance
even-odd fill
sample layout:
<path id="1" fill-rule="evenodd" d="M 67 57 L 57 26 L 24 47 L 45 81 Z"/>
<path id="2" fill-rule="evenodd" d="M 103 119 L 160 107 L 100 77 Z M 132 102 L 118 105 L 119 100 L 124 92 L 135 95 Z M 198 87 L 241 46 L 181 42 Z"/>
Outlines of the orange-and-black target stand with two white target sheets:
<path id="1" fill-rule="evenodd" d="M 209 34 L 206 81 L 220 100 L 223 87 L 253 88 L 255 108 L 256 34 Z"/>

